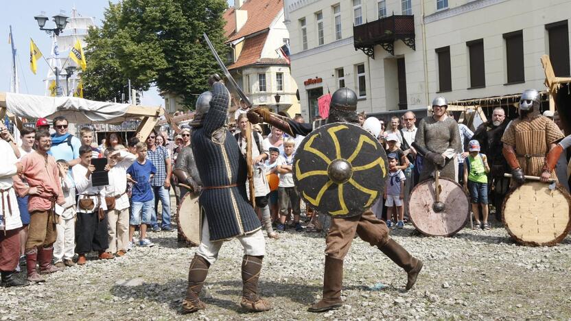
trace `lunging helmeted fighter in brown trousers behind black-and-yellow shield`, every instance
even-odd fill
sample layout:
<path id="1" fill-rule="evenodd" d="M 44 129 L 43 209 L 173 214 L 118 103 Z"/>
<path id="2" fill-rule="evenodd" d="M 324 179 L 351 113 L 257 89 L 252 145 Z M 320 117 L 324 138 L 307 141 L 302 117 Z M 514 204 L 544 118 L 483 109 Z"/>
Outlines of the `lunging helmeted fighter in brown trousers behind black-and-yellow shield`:
<path id="1" fill-rule="evenodd" d="M 353 123 L 358 126 L 359 117 L 356 109 L 357 95 L 355 92 L 349 88 L 340 88 L 331 97 L 327 123 Z M 291 136 L 298 134 L 306 136 L 312 132 L 312 126 L 309 123 L 296 123 L 290 119 L 279 119 L 269 110 L 262 108 L 250 110 L 250 112 L 248 112 L 248 119 L 250 119 L 252 123 L 265 121 L 272 126 L 281 128 L 281 130 Z M 347 127 L 350 128 L 352 126 Z M 314 139 L 315 136 L 311 138 Z M 302 147 L 300 146 L 297 153 L 299 153 L 301 149 Z M 331 167 L 333 163 L 334 162 L 331 162 L 329 166 Z M 330 200 L 327 202 L 329 201 Z M 341 284 L 343 278 L 343 259 L 347 252 L 349 252 L 351 241 L 353 241 L 355 235 L 358 235 L 361 239 L 370 243 L 371 246 L 377 246 L 387 257 L 407 272 L 407 290 L 415 285 L 417 276 L 423 266 L 422 261 L 412 257 L 404 248 L 391 239 L 391 237 L 388 236 L 386 224 L 382 220 L 377 219 L 370 209 L 367 209 L 364 213 L 348 213 L 342 217 L 334 215 L 334 213 L 331 212 L 329 212 L 329 215 L 331 215 L 331 226 L 325 239 L 323 298 L 312 305 L 308 311 L 323 312 L 342 305 Z"/>

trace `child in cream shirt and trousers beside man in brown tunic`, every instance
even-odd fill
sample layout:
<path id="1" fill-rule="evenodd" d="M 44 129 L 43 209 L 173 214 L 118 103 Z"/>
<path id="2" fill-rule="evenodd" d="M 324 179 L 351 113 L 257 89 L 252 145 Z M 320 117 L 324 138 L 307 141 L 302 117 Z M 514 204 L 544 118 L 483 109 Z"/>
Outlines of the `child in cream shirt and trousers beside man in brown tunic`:
<path id="1" fill-rule="evenodd" d="M 54 261 L 58 268 L 74 266 L 73 255 L 75 254 L 75 185 L 69 179 L 69 163 L 66 160 L 56 161 L 60 171 L 60 181 L 62 184 L 65 204 L 56 204 L 56 214 L 59 219 L 56 225 L 58 237 L 54 243 Z"/>

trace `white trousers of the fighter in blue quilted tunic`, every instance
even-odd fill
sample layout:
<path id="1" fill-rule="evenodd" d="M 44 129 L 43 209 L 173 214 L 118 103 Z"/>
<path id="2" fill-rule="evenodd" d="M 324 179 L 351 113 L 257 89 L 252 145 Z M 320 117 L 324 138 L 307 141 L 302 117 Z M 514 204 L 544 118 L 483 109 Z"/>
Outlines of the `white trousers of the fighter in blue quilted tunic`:
<path id="1" fill-rule="evenodd" d="M 224 241 L 210 241 L 210 233 L 208 231 L 208 221 L 206 217 L 202 222 L 202 234 L 200 237 L 202 239 L 200 240 L 200 246 L 196 249 L 196 254 L 205 258 L 212 265 L 216 259 L 218 259 L 218 252 L 220 252 L 220 248 L 222 248 L 222 243 L 224 243 Z M 254 233 L 236 237 L 236 239 L 242 243 L 244 255 L 261 257 L 266 254 L 266 240 L 264 240 L 264 234 L 261 233 L 261 229 Z"/>

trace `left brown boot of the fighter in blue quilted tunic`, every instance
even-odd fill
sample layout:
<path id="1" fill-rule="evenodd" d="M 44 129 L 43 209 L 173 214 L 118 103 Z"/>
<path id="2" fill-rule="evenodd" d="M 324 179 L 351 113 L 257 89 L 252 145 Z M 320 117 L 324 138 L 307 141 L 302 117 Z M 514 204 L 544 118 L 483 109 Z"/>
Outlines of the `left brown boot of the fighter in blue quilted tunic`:
<path id="1" fill-rule="evenodd" d="M 183 312 L 192 313 L 206 308 L 206 305 L 200 301 L 198 294 L 202 290 L 210 263 L 198 254 L 194 254 L 194 259 L 190 263 L 188 270 L 188 287 L 185 300 L 183 300 Z"/>

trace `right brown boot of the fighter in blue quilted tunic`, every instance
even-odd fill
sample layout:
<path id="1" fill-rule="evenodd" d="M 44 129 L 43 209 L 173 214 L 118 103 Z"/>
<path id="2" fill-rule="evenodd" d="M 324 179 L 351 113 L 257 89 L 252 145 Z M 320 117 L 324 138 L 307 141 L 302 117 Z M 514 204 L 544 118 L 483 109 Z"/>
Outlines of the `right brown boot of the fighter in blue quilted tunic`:
<path id="1" fill-rule="evenodd" d="M 251 312 L 268 311 L 272 305 L 258 296 L 258 280 L 261 270 L 261 259 L 244 255 L 242 258 L 242 302 L 240 306 Z"/>

